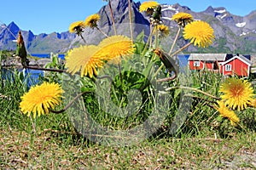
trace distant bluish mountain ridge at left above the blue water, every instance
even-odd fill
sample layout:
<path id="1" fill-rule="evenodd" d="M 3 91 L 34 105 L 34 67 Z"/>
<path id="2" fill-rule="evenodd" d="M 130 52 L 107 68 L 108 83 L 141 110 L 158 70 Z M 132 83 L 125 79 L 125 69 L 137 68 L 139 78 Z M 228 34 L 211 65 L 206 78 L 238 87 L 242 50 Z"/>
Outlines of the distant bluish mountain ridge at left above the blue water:
<path id="1" fill-rule="evenodd" d="M 15 50 L 16 37 L 20 31 L 19 26 L 15 22 L 11 22 L 8 26 L 0 26 L 0 49 Z M 51 34 L 34 35 L 32 31 L 22 31 L 21 34 L 26 44 L 26 49 L 30 53 L 60 53 L 66 50 L 70 42 L 75 38 L 74 34 L 66 32 L 53 32 Z"/>

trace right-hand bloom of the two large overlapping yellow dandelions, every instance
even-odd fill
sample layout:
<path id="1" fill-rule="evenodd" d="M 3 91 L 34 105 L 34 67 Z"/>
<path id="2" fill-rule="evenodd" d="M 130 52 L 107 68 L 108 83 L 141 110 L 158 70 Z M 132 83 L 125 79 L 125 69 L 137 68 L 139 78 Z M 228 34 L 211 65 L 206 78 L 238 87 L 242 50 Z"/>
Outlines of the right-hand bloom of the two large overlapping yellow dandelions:
<path id="1" fill-rule="evenodd" d="M 95 54 L 96 58 L 112 60 L 114 64 L 118 64 L 121 57 L 133 54 L 135 49 L 131 39 L 121 35 L 107 37 L 98 46 L 100 50 Z"/>

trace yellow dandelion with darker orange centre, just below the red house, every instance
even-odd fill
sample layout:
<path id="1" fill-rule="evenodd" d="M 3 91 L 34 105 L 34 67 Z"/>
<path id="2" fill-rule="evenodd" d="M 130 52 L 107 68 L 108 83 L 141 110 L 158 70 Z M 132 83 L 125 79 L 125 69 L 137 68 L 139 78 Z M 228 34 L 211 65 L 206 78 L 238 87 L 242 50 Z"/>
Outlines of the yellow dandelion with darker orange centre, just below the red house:
<path id="1" fill-rule="evenodd" d="M 219 92 L 223 92 L 221 99 L 224 99 L 225 104 L 232 107 L 234 110 L 242 111 L 247 108 L 253 101 L 253 88 L 247 80 L 242 81 L 237 78 L 228 78 L 219 88 Z"/>

